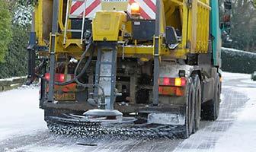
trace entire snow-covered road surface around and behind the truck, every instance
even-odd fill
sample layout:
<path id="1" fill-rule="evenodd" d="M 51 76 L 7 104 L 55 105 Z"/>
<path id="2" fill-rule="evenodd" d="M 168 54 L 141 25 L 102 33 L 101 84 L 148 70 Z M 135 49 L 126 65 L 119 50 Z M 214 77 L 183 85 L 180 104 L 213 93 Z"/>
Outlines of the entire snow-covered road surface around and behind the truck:
<path id="1" fill-rule="evenodd" d="M 0 151 L 256 151 L 256 83 L 249 74 L 223 74 L 219 119 L 201 121 L 190 138 L 75 138 L 49 133 L 38 88 L 0 93 Z"/>

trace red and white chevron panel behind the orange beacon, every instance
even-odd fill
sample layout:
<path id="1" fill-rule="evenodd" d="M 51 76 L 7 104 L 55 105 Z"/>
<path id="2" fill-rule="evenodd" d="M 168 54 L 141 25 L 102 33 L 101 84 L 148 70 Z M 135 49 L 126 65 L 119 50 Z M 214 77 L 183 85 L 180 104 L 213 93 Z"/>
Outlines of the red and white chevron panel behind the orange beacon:
<path id="1" fill-rule="evenodd" d="M 128 4 L 128 12 L 131 13 L 130 6 L 136 2 L 140 7 L 140 16 L 146 20 L 155 20 L 156 0 L 130 0 Z"/>

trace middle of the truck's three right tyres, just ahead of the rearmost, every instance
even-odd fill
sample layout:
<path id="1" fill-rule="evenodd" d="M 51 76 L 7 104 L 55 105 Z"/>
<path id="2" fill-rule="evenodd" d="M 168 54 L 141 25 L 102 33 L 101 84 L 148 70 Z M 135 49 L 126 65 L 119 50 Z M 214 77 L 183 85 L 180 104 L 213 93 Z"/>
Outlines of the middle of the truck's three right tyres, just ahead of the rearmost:
<path id="1" fill-rule="evenodd" d="M 195 133 L 200 128 L 200 115 L 201 115 L 201 103 L 202 103 L 202 90 L 201 82 L 198 75 L 194 76 L 194 87 L 195 87 L 195 102 L 194 102 L 194 128 L 193 133 Z"/>

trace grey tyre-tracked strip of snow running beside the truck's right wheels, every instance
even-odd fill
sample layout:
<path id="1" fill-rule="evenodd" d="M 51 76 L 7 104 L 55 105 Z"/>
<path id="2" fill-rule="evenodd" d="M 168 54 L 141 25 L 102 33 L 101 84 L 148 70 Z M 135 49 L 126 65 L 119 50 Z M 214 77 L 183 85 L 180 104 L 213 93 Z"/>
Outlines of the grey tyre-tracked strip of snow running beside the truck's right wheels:
<path id="1" fill-rule="evenodd" d="M 235 121 L 235 112 L 238 112 L 248 101 L 242 93 L 235 92 L 229 87 L 223 87 L 222 94 L 224 99 L 220 105 L 219 118 L 215 122 L 202 121 L 203 127 L 196 134 L 183 141 L 174 150 L 180 151 L 212 151 L 216 141 L 222 136 Z M 202 126 L 201 125 L 201 126 Z"/>

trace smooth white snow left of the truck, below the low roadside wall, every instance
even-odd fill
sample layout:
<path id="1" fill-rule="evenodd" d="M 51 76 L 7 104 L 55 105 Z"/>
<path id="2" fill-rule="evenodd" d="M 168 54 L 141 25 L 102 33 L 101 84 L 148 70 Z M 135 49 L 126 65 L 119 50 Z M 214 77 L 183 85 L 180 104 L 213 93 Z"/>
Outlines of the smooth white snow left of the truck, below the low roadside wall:
<path id="1" fill-rule="evenodd" d="M 38 87 L 20 87 L 0 93 L 0 141 L 46 129 L 38 91 Z"/>

